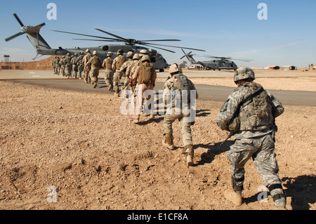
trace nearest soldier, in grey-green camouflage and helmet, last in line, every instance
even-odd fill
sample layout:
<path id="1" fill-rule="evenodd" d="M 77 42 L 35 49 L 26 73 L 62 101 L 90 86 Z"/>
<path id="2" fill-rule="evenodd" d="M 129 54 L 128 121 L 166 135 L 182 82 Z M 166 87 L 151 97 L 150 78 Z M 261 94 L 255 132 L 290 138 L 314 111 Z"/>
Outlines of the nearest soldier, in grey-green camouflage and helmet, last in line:
<path id="1" fill-rule="evenodd" d="M 218 113 L 220 129 L 235 131 L 235 144 L 228 151 L 232 171 L 232 191 L 224 195 L 236 205 L 242 204 L 244 165 L 252 157 L 263 184 L 268 187 L 275 206 L 285 209 L 287 198 L 275 155 L 275 117 L 284 112 L 282 103 L 269 91 L 254 82 L 254 71 L 240 67 L 235 71 L 237 88 Z"/>

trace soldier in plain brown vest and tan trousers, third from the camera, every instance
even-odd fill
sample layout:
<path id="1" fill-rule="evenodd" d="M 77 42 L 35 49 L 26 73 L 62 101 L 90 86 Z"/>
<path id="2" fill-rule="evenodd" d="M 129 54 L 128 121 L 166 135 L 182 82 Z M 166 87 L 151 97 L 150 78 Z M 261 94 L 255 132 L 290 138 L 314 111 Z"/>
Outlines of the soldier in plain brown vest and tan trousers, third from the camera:
<path id="1" fill-rule="evenodd" d="M 157 79 L 156 70 L 150 62 L 150 57 L 144 55 L 141 59 L 139 66 L 136 68 L 136 71 L 133 74 L 133 84 L 136 85 L 136 108 L 134 113 L 134 124 L 139 123 L 140 113 L 142 112 L 142 107 L 144 103 L 144 98 L 150 100 L 153 97 L 154 83 Z M 145 91 L 149 93 L 144 95 Z M 144 98 L 143 98 L 144 97 Z M 150 109 L 150 119 L 154 118 L 153 108 Z"/>

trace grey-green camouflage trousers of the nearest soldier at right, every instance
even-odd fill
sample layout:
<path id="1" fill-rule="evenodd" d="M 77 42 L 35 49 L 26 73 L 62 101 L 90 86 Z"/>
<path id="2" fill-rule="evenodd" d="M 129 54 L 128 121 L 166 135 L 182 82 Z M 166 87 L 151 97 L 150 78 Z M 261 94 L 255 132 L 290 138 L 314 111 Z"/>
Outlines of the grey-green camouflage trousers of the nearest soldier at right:
<path id="1" fill-rule="evenodd" d="M 277 166 L 275 154 L 275 141 L 272 139 L 271 133 L 256 138 L 237 139 L 235 144 L 230 146 L 228 159 L 232 178 L 237 180 L 235 182 L 237 187 L 242 187 L 244 183 L 244 165 L 251 158 L 265 187 L 282 184 L 277 176 L 279 166 Z"/>

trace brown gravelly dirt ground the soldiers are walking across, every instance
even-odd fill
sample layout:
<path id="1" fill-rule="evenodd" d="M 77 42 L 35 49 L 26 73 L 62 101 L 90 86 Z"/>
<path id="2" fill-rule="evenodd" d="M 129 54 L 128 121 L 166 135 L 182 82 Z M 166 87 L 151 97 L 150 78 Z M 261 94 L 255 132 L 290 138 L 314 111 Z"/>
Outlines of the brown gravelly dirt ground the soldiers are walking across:
<path id="1" fill-rule="evenodd" d="M 281 86 L 275 79 L 257 81 L 265 88 L 294 90 L 307 90 L 308 83 L 308 91 L 315 91 L 310 79 L 284 78 Z M 187 168 L 178 122 L 173 124 L 177 148 L 166 150 L 164 117 L 142 117 L 140 125 L 133 124 L 119 110 L 124 99 L 114 95 L 10 81 L 0 81 L 0 95 L 0 209 L 275 209 L 270 195 L 258 202 L 264 189 L 251 160 L 244 204 L 235 206 L 223 197 L 231 187 L 227 151 L 233 143 L 232 138 L 220 146 L 227 136 L 216 125 L 223 102 L 197 101 L 195 166 Z M 287 209 L 315 210 L 315 107 L 284 107 L 276 119 L 275 151 Z"/>

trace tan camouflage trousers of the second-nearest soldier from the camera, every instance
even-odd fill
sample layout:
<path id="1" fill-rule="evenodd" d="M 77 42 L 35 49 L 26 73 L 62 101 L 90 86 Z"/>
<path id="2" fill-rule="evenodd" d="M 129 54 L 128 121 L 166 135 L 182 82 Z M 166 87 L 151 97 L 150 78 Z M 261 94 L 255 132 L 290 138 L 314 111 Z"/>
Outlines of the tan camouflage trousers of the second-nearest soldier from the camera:
<path id="1" fill-rule="evenodd" d="M 190 116 L 190 115 L 189 115 Z M 178 119 L 181 133 L 182 133 L 182 140 L 185 146 L 193 145 L 192 142 L 192 131 L 191 131 L 191 122 L 187 120 L 187 116 L 181 114 L 176 114 L 173 110 L 170 114 L 166 114 L 164 116 L 164 133 L 173 133 L 172 124 L 174 121 Z"/>

